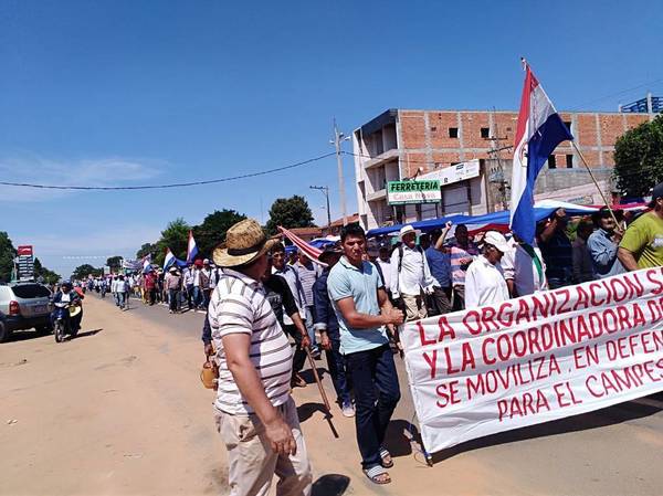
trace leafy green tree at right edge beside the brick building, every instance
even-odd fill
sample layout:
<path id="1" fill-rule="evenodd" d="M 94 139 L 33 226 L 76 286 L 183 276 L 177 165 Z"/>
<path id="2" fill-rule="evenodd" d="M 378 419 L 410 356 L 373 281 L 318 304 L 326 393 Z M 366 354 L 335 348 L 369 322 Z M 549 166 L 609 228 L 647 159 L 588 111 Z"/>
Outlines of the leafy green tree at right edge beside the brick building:
<path id="1" fill-rule="evenodd" d="M 646 197 L 663 181 L 663 116 L 628 130 L 617 140 L 614 178 L 628 197 Z"/>

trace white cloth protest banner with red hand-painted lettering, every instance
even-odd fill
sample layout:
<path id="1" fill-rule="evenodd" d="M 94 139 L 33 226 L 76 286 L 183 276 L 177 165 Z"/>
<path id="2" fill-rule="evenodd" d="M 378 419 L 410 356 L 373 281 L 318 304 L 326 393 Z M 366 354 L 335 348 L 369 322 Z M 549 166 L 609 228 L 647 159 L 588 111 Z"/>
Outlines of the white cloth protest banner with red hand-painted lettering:
<path id="1" fill-rule="evenodd" d="M 423 444 L 464 441 L 663 390 L 663 268 L 409 323 Z"/>

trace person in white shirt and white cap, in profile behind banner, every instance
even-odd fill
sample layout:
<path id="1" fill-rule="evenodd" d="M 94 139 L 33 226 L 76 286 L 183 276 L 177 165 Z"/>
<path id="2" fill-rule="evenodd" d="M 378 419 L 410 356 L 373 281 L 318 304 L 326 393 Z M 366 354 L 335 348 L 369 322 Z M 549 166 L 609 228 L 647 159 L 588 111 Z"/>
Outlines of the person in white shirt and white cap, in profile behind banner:
<path id="1" fill-rule="evenodd" d="M 486 232 L 483 241 L 483 253 L 467 267 L 465 275 L 465 308 L 508 299 L 508 287 L 499 261 L 511 247 L 497 231 Z"/>

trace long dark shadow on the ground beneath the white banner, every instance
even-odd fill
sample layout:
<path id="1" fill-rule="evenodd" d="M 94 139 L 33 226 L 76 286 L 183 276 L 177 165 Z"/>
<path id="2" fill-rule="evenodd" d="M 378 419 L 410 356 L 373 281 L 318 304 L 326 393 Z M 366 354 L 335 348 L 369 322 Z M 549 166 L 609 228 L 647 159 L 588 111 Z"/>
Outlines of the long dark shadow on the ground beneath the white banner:
<path id="1" fill-rule="evenodd" d="M 661 401 L 663 394 L 657 393 L 648 398 Z M 653 404 L 641 404 L 632 401 L 620 403 L 602 410 L 597 410 L 594 412 L 583 413 L 581 415 L 568 416 L 566 419 L 560 419 L 552 422 L 516 429 L 514 431 L 501 432 L 477 440 L 467 441 L 433 454 L 433 463 L 443 462 L 461 453 L 481 447 L 603 428 L 607 425 L 627 422 L 629 420 L 653 415 L 661 410 L 663 410 L 663 408 L 659 408 Z"/>

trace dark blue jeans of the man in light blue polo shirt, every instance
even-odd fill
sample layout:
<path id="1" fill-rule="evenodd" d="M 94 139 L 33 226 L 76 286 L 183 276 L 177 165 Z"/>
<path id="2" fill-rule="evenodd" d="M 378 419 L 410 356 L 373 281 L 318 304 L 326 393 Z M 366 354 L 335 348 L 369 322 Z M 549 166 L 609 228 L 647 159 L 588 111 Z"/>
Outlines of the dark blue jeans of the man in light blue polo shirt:
<path id="1" fill-rule="evenodd" d="M 400 400 L 398 374 L 389 345 L 348 353 L 346 363 L 355 389 L 355 426 L 361 466 L 368 469 L 381 463 L 380 446 Z"/>

